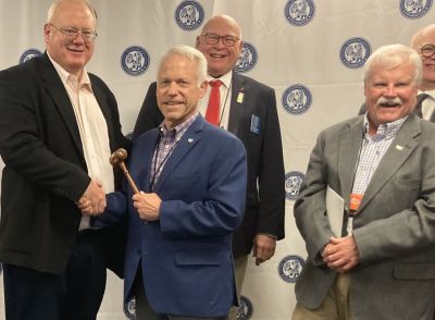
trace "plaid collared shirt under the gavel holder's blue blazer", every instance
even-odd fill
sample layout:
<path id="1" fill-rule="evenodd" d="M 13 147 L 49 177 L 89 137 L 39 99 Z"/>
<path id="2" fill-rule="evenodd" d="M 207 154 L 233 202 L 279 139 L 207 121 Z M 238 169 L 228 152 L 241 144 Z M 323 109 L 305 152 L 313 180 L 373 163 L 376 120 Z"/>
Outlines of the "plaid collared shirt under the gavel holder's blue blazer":
<path id="1" fill-rule="evenodd" d="M 160 139 L 156 145 L 154 155 L 151 161 L 151 174 L 150 174 L 150 186 L 151 190 L 154 188 L 157 182 L 159 181 L 160 174 L 170 158 L 172 151 L 175 149 L 176 145 L 198 118 L 198 112 L 187 119 L 185 122 L 178 124 L 177 126 L 167 130 L 164 121 L 160 124 Z"/>

